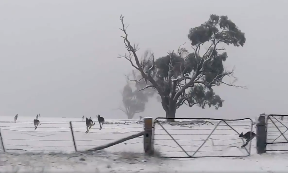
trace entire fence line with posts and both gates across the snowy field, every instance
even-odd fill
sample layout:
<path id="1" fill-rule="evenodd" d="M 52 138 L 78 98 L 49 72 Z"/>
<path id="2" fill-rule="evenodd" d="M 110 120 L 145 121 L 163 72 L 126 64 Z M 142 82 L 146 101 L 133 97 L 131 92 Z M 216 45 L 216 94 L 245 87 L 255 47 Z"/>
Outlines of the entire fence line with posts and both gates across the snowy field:
<path id="1" fill-rule="evenodd" d="M 213 119 L 213 118 L 206 118 L 206 119 L 205 118 L 175 118 L 175 119 L 190 119 L 190 120 L 194 119 L 194 121 L 193 122 L 192 121 L 191 122 L 175 121 L 174 123 L 155 120 L 155 122 L 157 122 L 159 126 L 161 126 L 161 128 L 157 128 L 155 126 L 155 122 L 154 124 L 152 123 L 152 118 L 145 118 L 144 120 L 133 120 L 130 122 L 127 120 L 111 120 L 104 124 L 104 127 L 102 128 L 103 130 L 100 131 L 100 130 L 97 130 L 97 128 L 92 128 L 92 129 L 96 129 L 97 132 L 90 131 L 87 134 L 84 134 L 84 132 L 86 131 L 86 124 L 84 123 L 85 121 L 43 122 L 41 123 L 41 126 L 37 128 L 37 130 L 34 130 L 34 126 L 32 125 L 32 122 L 15 123 L 13 121 L 0 121 L 0 124 L 2 123 L 0 125 L 0 139 L 1 139 L 1 145 L 2 145 L 3 151 L 20 150 L 20 151 L 73 152 L 73 151 L 79 151 L 80 148 L 82 147 L 90 148 L 88 150 L 85 149 L 85 151 L 97 151 L 97 150 L 108 148 L 116 144 L 133 145 L 133 144 L 142 143 L 144 145 L 137 145 L 137 146 L 141 146 L 142 149 L 144 146 L 145 153 L 147 153 L 147 150 L 149 150 L 149 148 L 153 148 L 152 150 L 154 150 L 153 146 L 160 146 L 160 147 L 165 146 L 165 147 L 170 148 L 170 151 L 162 151 L 162 152 L 158 151 L 158 152 L 159 153 L 183 153 L 184 152 L 187 156 L 183 156 L 183 157 L 240 157 L 240 155 L 224 155 L 223 156 L 223 151 L 224 151 L 223 148 L 229 148 L 229 147 L 239 148 L 241 144 L 245 143 L 243 139 L 239 138 L 240 132 L 245 132 L 247 130 L 253 131 L 253 128 L 254 128 L 253 126 L 255 125 L 257 126 L 257 134 L 258 134 L 257 140 L 256 140 L 258 153 L 260 153 L 259 152 L 260 147 L 262 147 L 261 152 L 262 150 L 265 152 L 266 151 L 288 151 L 286 148 L 284 148 L 283 150 L 279 150 L 279 149 L 278 150 L 272 150 L 272 149 L 266 150 L 266 148 L 263 147 L 263 146 L 266 147 L 266 145 L 268 144 L 269 145 L 274 144 L 276 146 L 280 146 L 280 145 L 283 145 L 282 143 L 286 143 L 286 145 L 288 145 L 288 137 L 286 139 L 285 137 L 286 134 L 284 135 L 285 132 L 288 133 L 288 121 L 283 121 L 283 120 L 279 121 L 278 118 L 275 118 L 274 116 L 281 116 L 281 115 L 267 115 L 267 118 L 266 118 L 267 121 L 265 120 L 265 118 L 264 119 L 262 118 L 261 123 L 260 123 L 260 117 L 259 117 L 258 119 L 259 121 L 257 121 L 257 124 L 254 124 L 253 120 L 251 120 L 250 118 L 244 118 L 244 119 L 238 119 L 238 120 L 236 119 L 222 120 L 222 119 Z M 158 118 L 158 119 L 166 119 L 166 118 Z M 214 121 L 213 123 L 211 123 L 212 121 L 209 122 L 207 120 L 217 120 L 218 123 Z M 245 121 L 245 123 L 248 123 L 248 122 L 250 123 L 249 124 L 244 124 L 244 123 L 228 124 L 227 123 L 228 121 L 235 122 L 235 121 L 242 121 L 242 120 L 243 121 L 248 120 L 248 121 Z M 268 120 L 270 120 L 271 122 L 268 123 Z M 145 123 L 146 121 L 147 122 L 149 121 L 150 123 Z M 124 123 L 121 123 L 121 122 L 124 122 Z M 13 123 L 13 126 L 6 125 L 6 123 L 7 124 Z M 276 125 L 275 123 L 278 123 L 279 125 Z M 30 127 L 28 126 L 28 124 Z M 112 127 L 112 125 L 114 125 L 115 127 Z M 119 126 L 117 127 L 117 125 L 121 125 L 122 127 L 119 127 Z M 126 126 L 126 125 L 131 125 L 131 126 Z M 170 129 L 166 127 L 166 125 L 169 125 Z M 55 127 L 52 127 L 52 126 L 55 126 Z M 176 128 L 174 128 L 173 126 L 174 127 L 176 126 Z M 97 127 L 97 125 L 94 127 Z M 12 129 L 12 128 L 19 128 L 19 129 Z M 260 132 L 261 128 L 263 132 Z M 47 131 L 45 130 L 41 131 L 41 129 L 46 129 Z M 61 130 L 57 131 L 57 129 L 61 129 Z M 115 131 L 113 131 L 112 129 Z M 137 131 L 137 129 L 139 130 Z M 266 129 L 268 129 L 268 133 Z M 285 131 L 282 131 L 282 129 L 285 129 Z M 159 132 L 156 135 L 155 135 L 155 130 Z M 174 131 L 172 132 L 172 130 Z M 176 132 L 175 130 L 177 130 L 179 133 Z M 223 130 L 225 132 L 223 132 Z M 17 135 L 20 134 L 20 135 L 16 137 L 17 139 L 15 138 L 13 139 L 13 135 L 12 135 L 13 133 L 16 133 Z M 56 136 L 60 133 L 61 135 Z M 128 133 L 134 133 L 134 134 L 127 137 Z M 261 133 L 265 135 L 259 135 Z M 109 134 L 112 136 L 113 134 L 117 134 L 117 138 L 112 137 L 108 139 L 107 136 Z M 123 134 L 125 134 L 125 136 L 122 136 Z M 28 137 L 26 137 L 25 139 L 26 135 L 28 135 L 30 139 L 28 139 Z M 103 135 L 103 137 L 101 137 L 101 135 Z M 181 139 L 183 135 L 186 135 L 186 137 Z M 187 138 L 187 135 L 192 135 L 193 139 Z M 200 135 L 206 136 L 205 139 L 201 139 Z M 48 136 L 50 136 L 49 137 L 50 139 L 47 139 L 47 138 L 43 139 L 43 137 L 48 137 Z M 56 137 L 53 137 L 53 136 L 56 136 Z M 156 136 L 157 139 L 155 139 L 154 136 Z M 229 137 L 225 137 L 224 139 L 222 138 L 224 136 L 229 136 Z M 88 137 L 88 138 L 84 139 L 83 137 Z M 275 139 L 270 139 L 269 137 L 272 137 Z M 285 140 L 280 137 L 285 138 Z M 260 141 L 260 138 L 261 138 L 261 141 Z M 140 139 L 140 140 L 126 142 L 127 140 L 131 140 L 131 139 L 136 139 L 136 140 Z M 160 142 L 163 141 L 163 143 L 155 144 L 154 140 L 160 141 Z M 267 140 L 273 140 L 273 141 L 271 143 L 267 143 Z M 278 141 L 274 142 L 275 140 L 278 140 Z M 108 141 L 107 142 L 108 144 L 107 143 L 101 144 L 101 142 L 103 141 L 104 142 Z M 170 143 L 170 141 L 174 141 L 174 143 Z M 229 141 L 228 142 L 229 144 L 224 143 L 224 141 Z M 29 143 L 29 145 L 27 142 Z M 60 146 L 59 145 L 57 146 L 56 144 L 57 142 L 60 142 Z M 95 143 L 93 144 L 93 142 Z M 43 143 L 43 145 L 39 145 L 39 143 Z M 16 148 L 12 148 L 12 147 L 16 147 Z M 29 148 L 29 147 L 32 147 L 32 148 Z M 45 149 L 42 149 L 41 147 Z M 219 148 L 215 148 L 215 147 L 219 147 L 219 148 L 222 147 L 222 150 L 218 150 Z M 247 146 L 247 148 L 245 148 L 244 145 L 241 147 L 244 147 L 244 149 L 247 151 L 247 155 L 242 155 L 242 156 L 250 155 L 251 142 L 250 142 L 250 146 Z M 63 148 L 63 150 L 60 148 Z M 130 147 L 130 148 L 134 148 L 134 147 Z M 178 148 L 178 149 L 182 148 L 182 151 L 177 151 L 175 150 L 175 148 Z M 239 148 L 239 151 L 240 149 L 241 148 Z M 217 153 L 219 151 L 221 151 L 222 153 Z M 208 153 L 208 155 L 209 154 L 211 155 L 211 153 L 214 152 L 216 156 L 208 156 L 208 155 L 203 156 L 205 154 L 203 154 L 202 156 L 195 156 L 197 152 L 199 153 L 205 152 L 206 154 L 210 152 Z M 240 153 L 240 154 L 243 154 L 243 153 Z M 182 156 L 172 156 L 170 158 L 181 158 L 181 157 Z"/>

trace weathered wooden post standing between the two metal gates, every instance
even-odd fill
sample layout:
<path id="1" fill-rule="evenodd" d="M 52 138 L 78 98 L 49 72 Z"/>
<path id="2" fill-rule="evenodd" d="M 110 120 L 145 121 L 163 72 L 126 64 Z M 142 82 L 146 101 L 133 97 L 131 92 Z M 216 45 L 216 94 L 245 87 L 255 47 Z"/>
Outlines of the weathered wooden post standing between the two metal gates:
<path id="1" fill-rule="evenodd" d="M 266 117 L 265 115 L 258 116 L 257 131 L 256 131 L 257 154 L 266 153 L 267 131 L 266 131 L 265 117 Z"/>

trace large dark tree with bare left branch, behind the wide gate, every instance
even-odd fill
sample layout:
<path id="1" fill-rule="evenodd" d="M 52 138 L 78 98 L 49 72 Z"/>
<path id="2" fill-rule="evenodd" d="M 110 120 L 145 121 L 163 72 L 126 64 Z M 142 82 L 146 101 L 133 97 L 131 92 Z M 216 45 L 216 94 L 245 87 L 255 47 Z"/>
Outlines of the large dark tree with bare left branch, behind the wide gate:
<path id="1" fill-rule="evenodd" d="M 223 62 L 228 55 L 219 45 L 225 43 L 239 47 L 244 46 L 246 41 L 245 34 L 227 16 L 210 15 L 208 21 L 189 30 L 188 39 L 193 49 L 191 53 L 181 45 L 177 52 L 172 51 L 156 60 L 153 53 L 149 56 L 145 53 L 142 61 L 136 54 L 138 47 L 128 40 L 123 19 L 121 15 L 120 29 L 124 33 L 121 37 L 129 55 L 121 58 L 127 59 L 140 72 L 146 84 L 141 90 L 157 90 L 166 117 L 171 118 L 168 120 L 173 121 L 176 109 L 183 104 L 189 107 L 198 105 L 203 109 L 206 106 L 214 106 L 215 109 L 222 107 L 224 100 L 215 94 L 214 86 L 224 84 L 245 88 L 223 80 L 225 76 L 237 78 L 233 76 L 233 69 L 229 71 L 224 68 Z M 200 49 L 204 44 L 209 44 L 209 47 L 201 55 Z"/>

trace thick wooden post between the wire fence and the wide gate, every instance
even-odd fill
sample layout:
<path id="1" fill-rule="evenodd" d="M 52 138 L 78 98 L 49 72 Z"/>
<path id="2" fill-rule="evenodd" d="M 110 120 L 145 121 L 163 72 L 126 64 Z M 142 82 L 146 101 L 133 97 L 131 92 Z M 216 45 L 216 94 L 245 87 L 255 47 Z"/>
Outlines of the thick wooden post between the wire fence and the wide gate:
<path id="1" fill-rule="evenodd" d="M 152 141 L 152 127 L 153 127 L 153 119 L 151 117 L 144 118 L 144 135 L 143 135 L 143 143 L 144 143 L 144 152 L 146 155 L 154 154 L 154 146 Z"/>

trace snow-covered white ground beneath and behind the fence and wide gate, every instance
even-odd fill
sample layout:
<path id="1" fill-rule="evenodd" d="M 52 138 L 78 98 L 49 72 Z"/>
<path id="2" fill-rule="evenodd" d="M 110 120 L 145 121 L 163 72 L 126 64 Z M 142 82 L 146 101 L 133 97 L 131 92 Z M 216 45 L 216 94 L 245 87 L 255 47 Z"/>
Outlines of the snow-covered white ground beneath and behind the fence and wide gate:
<path id="1" fill-rule="evenodd" d="M 256 141 L 252 141 L 251 156 L 240 146 L 243 141 L 238 133 L 251 130 L 247 120 L 215 125 L 155 125 L 154 147 L 162 156 L 183 157 L 185 152 L 194 156 L 231 156 L 234 158 L 167 158 L 143 156 L 142 137 L 131 139 L 103 151 L 93 153 L 74 152 L 69 121 L 77 150 L 93 148 L 113 140 L 136 134 L 143 130 L 138 120 L 106 120 L 108 124 L 99 130 L 95 124 L 85 134 L 85 122 L 81 118 L 39 118 L 41 125 L 34 131 L 33 117 L 1 117 L 0 128 L 6 153 L 0 153 L 0 172 L 180 172 L 180 171 L 260 171 L 282 172 L 287 170 L 288 153 L 256 154 Z M 126 123 L 125 123 L 126 122 Z M 217 121 L 213 121 L 217 123 Z M 164 127 L 164 128 L 163 128 Z M 166 131 L 169 134 L 166 133 Z M 255 128 L 253 128 L 255 131 Z M 275 134 L 277 132 L 274 132 Z M 274 134 L 273 133 L 273 134 Z M 211 134 L 211 135 L 210 135 Z M 280 134 L 280 132 L 279 132 Z M 210 136 L 209 136 L 210 135 Z M 178 144 L 183 148 L 178 146 Z M 205 139 L 208 139 L 205 143 Z M 199 147 L 203 146 L 199 149 Z M 26 150 L 26 151 L 25 151 Z M 196 152 L 199 150 L 198 152 Z M 54 151 L 52 153 L 49 153 Z M 61 153 L 59 153 L 61 152 Z"/>

